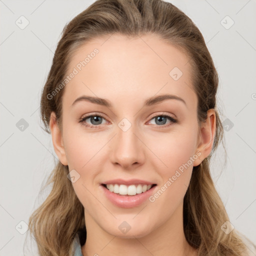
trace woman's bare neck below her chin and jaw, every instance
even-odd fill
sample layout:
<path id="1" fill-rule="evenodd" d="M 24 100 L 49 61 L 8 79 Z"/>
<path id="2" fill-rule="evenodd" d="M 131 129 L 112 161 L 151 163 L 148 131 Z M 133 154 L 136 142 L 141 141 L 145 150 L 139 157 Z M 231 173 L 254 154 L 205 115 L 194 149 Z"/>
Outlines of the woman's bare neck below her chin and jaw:
<path id="1" fill-rule="evenodd" d="M 168 221 L 152 232 L 142 237 L 133 236 L 133 238 L 122 238 L 107 233 L 89 214 L 85 213 L 87 236 L 82 246 L 82 254 L 83 256 L 196 255 L 196 250 L 187 243 L 184 236 L 182 207 L 181 204 Z"/>

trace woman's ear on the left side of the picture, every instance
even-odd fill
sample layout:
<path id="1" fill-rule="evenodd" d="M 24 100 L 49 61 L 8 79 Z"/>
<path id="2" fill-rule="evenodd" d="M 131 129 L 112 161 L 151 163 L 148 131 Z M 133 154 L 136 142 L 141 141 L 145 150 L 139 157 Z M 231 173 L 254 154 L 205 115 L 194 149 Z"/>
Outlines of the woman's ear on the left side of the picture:
<path id="1" fill-rule="evenodd" d="M 65 149 L 63 145 L 63 138 L 60 129 L 56 123 L 56 115 L 54 112 L 50 114 L 50 131 L 51 131 L 51 138 L 54 147 L 54 151 L 58 156 L 58 159 L 63 165 L 67 165 L 67 159 L 65 154 Z"/>

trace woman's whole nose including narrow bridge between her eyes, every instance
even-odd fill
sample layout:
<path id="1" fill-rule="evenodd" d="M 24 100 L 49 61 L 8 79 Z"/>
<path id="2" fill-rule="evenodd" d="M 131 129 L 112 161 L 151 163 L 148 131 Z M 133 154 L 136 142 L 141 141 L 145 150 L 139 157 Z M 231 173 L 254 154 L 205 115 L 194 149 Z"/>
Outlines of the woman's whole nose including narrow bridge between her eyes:
<path id="1" fill-rule="evenodd" d="M 137 137 L 139 132 L 136 129 L 135 124 L 127 118 L 123 118 L 118 123 L 111 155 L 113 163 L 128 168 L 133 163 L 141 163 L 144 160 L 142 143 Z"/>

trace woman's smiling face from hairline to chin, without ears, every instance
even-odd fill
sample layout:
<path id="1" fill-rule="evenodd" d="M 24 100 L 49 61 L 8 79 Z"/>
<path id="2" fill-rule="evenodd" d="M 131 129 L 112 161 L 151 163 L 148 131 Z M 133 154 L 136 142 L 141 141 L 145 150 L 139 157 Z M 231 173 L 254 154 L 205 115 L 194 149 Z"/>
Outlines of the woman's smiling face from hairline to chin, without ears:
<path id="1" fill-rule="evenodd" d="M 108 37 L 70 60 L 63 151 L 55 151 L 68 165 L 86 227 L 140 237 L 182 218 L 192 167 L 205 157 L 197 97 L 189 58 L 177 48 L 156 35 Z"/>

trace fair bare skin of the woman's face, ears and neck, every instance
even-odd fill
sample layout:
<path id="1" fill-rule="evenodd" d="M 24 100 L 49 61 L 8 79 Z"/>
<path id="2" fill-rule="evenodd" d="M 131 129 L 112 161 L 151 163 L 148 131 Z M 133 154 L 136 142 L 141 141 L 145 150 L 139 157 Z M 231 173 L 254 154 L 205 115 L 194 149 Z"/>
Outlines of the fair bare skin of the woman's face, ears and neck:
<path id="1" fill-rule="evenodd" d="M 215 112 L 209 109 L 206 121 L 198 126 L 189 58 L 176 47 L 156 35 L 128 38 L 113 34 L 107 38 L 92 39 L 71 58 L 68 73 L 94 48 L 99 50 L 64 88 L 62 133 L 54 112 L 50 118 L 59 160 L 80 175 L 72 185 L 84 206 L 87 239 L 82 254 L 196 255 L 183 232 L 183 197 L 193 166 L 211 151 Z M 176 81 L 169 75 L 174 66 L 183 72 Z M 166 99 L 143 106 L 149 97 L 165 93 L 181 97 L 186 104 Z M 81 95 L 105 98 L 113 106 L 89 101 L 72 106 Z M 98 128 L 79 122 L 85 114 L 97 113 L 103 114 Z M 159 124 L 154 117 L 162 114 L 169 114 L 178 123 L 167 118 Z M 118 126 L 124 117 L 131 124 L 127 131 Z M 95 125 L 90 118 L 86 123 Z M 157 191 L 196 151 L 200 156 L 154 202 L 117 207 L 99 189 L 109 179 L 139 178 L 156 183 Z M 123 221 L 131 227 L 125 234 L 118 228 Z"/>

